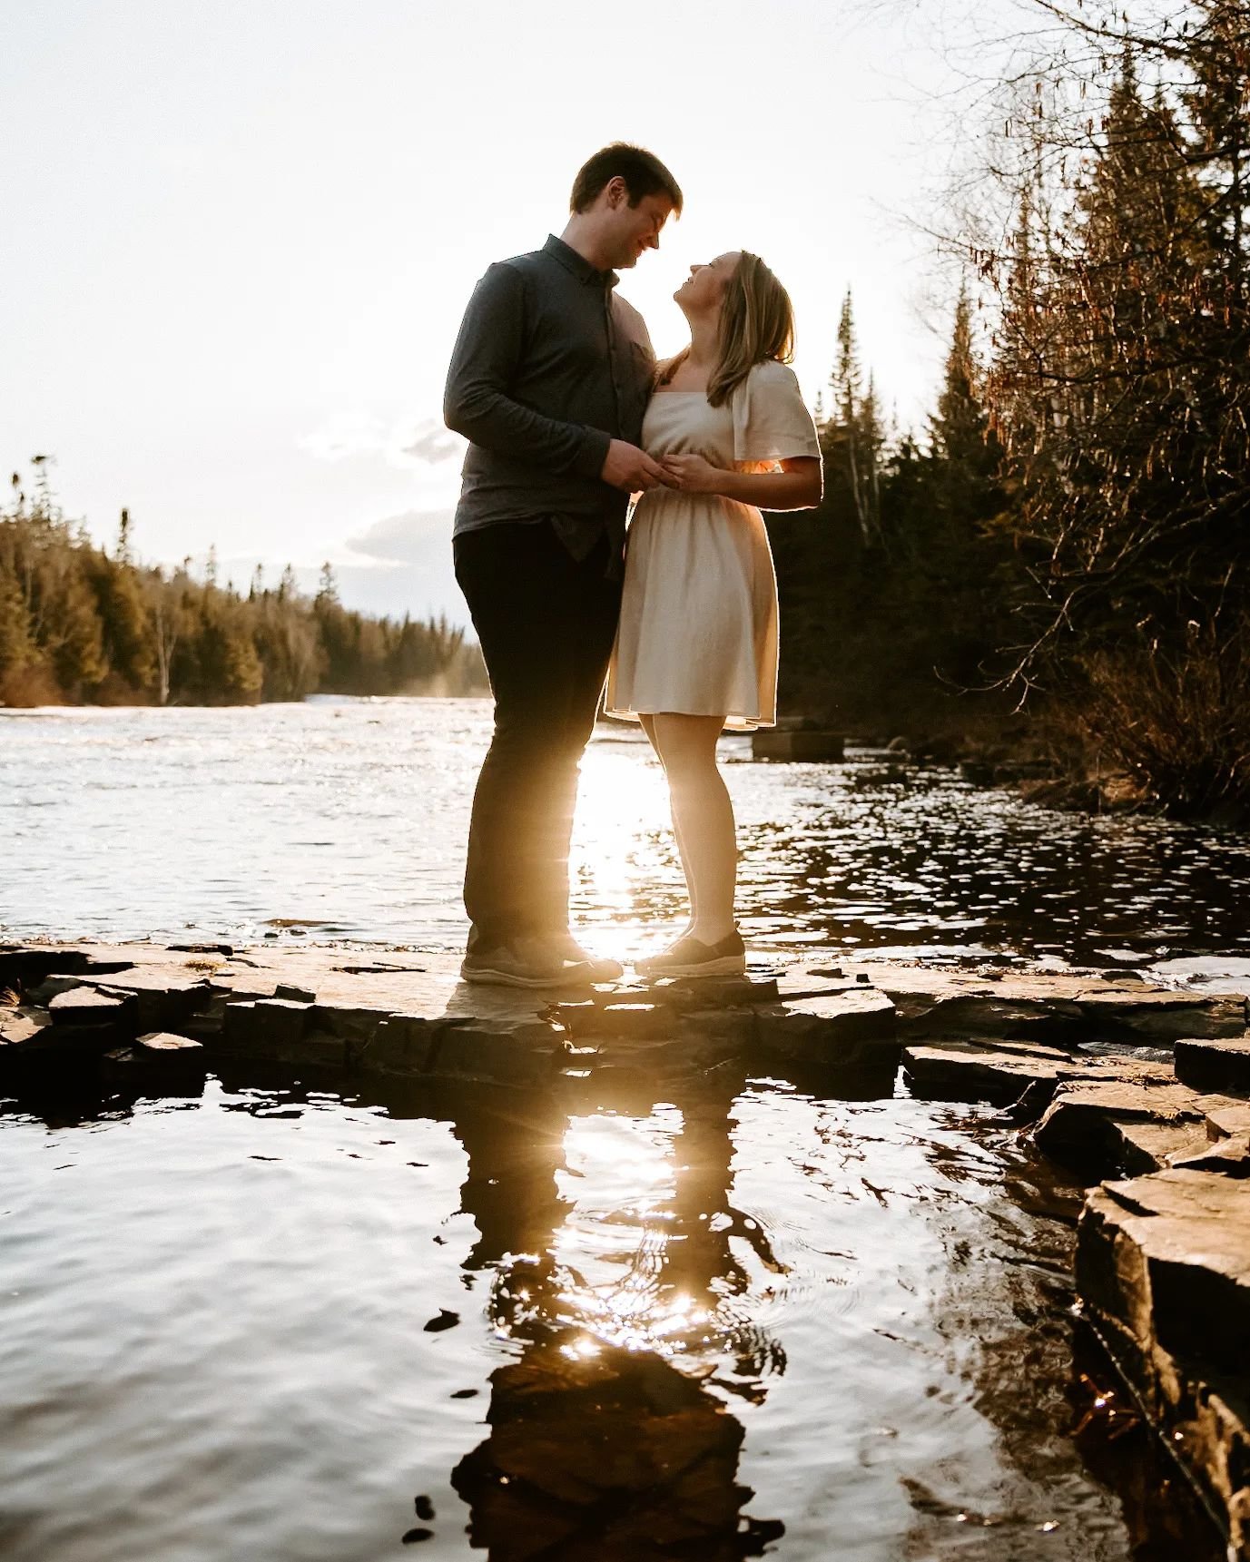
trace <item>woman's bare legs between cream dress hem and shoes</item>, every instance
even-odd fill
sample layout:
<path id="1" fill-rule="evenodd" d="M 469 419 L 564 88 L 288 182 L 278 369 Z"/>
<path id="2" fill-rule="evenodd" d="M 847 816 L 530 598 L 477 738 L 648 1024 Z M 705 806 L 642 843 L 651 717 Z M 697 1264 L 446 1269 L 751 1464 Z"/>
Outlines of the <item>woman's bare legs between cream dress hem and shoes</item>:
<path id="1" fill-rule="evenodd" d="M 738 883 L 733 804 L 716 765 L 725 719 L 661 711 L 650 723 L 647 736 L 669 778 L 673 829 L 691 893 L 689 931 L 700 943 L 719 943 L 734 929 Z"/>

